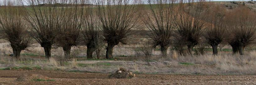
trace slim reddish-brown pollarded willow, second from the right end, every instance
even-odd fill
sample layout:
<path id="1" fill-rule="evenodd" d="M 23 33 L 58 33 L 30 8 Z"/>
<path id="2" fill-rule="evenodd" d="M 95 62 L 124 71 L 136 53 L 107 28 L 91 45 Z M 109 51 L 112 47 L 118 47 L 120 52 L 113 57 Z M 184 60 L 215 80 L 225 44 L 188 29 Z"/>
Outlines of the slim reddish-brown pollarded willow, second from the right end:
<path id="1" fill-rule="evenodd" d="M 218 54 L 218 45 L 226 38 L 227 24 L 225 20 L 226 9 L 220 5 L 212 5 L 209 15 L 209 23 L 206 26 L 205 39 L 211 45 L 213 55 Z"/>

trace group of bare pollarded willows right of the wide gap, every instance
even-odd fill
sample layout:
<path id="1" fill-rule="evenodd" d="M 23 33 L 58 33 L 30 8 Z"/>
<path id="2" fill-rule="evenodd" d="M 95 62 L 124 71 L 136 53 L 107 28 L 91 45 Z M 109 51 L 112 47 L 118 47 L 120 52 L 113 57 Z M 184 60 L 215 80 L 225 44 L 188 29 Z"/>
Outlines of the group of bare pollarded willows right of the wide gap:
<path id="1" fill-rule="evenodd" d="M 233 53 L 243 55 L 244 47 L 255 40 L 256 14 L 246 7 L 227 9 L 205 0 L 147 0 L 149 11 L 144 24 L 150 30 L 153 47 L 161 47 L 163 56 L 170 45 L 180 54 L 187 47 L 191 55 L 195 45 L 205 40 L 217 55 L 218 45 L 226 42 Z M 178 5 L 177 5 L 178 3 Z M 157 4 L 157 5 L 156 5 Z"/>

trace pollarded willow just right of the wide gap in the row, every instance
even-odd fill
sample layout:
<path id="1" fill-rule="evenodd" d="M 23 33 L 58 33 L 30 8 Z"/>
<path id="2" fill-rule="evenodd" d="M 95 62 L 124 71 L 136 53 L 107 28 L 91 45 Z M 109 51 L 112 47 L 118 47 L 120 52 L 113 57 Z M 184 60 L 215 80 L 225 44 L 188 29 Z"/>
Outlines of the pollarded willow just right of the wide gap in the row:
<path id="1" fill-rule="evenodd" d="M 149 30 L 149 40 L 156 47 L 161 46 L 163 56 L 167 56 L 168 47 L 172 43 L 174 4 L 176 0 L 148 0 L 149 10 L 145 10 L 142 18 Z"/>

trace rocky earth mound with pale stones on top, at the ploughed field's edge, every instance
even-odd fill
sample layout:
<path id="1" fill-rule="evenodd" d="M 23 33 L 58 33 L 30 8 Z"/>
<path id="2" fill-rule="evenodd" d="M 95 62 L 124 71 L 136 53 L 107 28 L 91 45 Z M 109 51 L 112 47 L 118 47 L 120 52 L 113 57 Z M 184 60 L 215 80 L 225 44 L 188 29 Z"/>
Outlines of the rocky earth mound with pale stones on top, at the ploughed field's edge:
<path id="1" fill-rule="evenodd" d="M 109 78 L 133 78 L 135 77 L 135 74 L 133 74 L 131 71 L 128 71 L 127 69 L 125 68 L 118 68 L 118 70 L 109 75 Z"/>

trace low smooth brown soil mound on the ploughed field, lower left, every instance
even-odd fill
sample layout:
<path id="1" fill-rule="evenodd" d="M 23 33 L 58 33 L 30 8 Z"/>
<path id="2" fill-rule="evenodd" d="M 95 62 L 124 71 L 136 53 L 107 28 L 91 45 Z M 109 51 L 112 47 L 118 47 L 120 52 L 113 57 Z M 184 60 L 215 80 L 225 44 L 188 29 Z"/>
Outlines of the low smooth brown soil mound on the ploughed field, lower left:
<path id="1" fill-rule="evenodd" d="M 51 80 L 49 77 L 45 77 L 40 74 L 23 74 L 20 77 L 18 77 L 15 81 L 33 81 L 33 80 Z"/>

